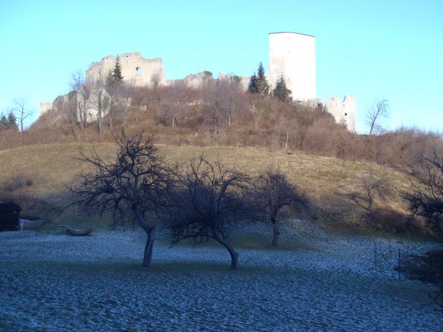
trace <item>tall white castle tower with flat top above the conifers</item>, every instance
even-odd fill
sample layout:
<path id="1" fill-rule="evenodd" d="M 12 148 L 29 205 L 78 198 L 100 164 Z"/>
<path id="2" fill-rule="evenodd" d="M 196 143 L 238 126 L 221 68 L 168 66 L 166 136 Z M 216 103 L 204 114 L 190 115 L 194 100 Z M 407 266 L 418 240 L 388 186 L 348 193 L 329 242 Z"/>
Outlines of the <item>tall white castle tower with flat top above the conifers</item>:
<path id="1" fill-rule="evenodd" d="M 316 38 L 300 33 L 269 34 L 271 89 L 283 74 L 294 100 L 316 98 Z"/>

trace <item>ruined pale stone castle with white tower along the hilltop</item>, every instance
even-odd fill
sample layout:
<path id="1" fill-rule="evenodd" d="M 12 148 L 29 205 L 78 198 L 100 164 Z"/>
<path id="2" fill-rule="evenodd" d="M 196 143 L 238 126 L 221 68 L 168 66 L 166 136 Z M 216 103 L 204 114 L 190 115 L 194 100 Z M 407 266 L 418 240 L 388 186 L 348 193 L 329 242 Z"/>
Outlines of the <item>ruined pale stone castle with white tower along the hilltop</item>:
<path id="1" fill-rule="evenodd" d="M 105 83 L 116 58 L 112 55 L 94 62 L 86 71 L 87 84 Z M 163 70 L 163 59 L 145 59 L 138 52 L 120 55 L 120 65 L 125 82 L 134 86 L 170 85 L 183 81 L 187 86 L 198 88 L 210 80 L 213 73 L 203 71 L 186 76 L 183 80 L 168 80 Z M 316 98 L 316 57 L 315 37 L 300 33 L 269 34 L 269 70 L 266 77 L 271 87 L 275 86 L 280 75 L 284 76 L 287 87 L 292 91 L 293 100 L 306 103 L 311 107 L 323 107 L 334 116 L 336 122 L 343 123 L 350 131 L 355 131 L 356 107 L 352 95 L 346 95 L 343 102 L 337 97 L 326 102 Z M 219 73 L 219 79 L 228 75 Z M 246 91 L 251 76 L 237 77 Z M 63 98 L 63 97 L 62 97 Z M 40 113 L 53 108 L 53 103 L 40 103 Z"/>

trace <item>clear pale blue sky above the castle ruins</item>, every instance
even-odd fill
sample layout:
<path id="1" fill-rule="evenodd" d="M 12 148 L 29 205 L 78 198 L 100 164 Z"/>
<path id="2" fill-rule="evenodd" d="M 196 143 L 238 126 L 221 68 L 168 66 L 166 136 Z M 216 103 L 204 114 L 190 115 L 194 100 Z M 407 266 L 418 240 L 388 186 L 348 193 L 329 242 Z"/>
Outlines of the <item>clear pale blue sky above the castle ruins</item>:
<path id="1" fill-rule="evenodd" d="M 168 79 L 269 66 L 268 33 L 316 36 L 317 96 L 356 97 L 357 130 L 375 98 L 384 124 L 443 131 L 443 1 L 0 1 L 0 111 L 69 92 L 105 55 L 163 57 Z"/>

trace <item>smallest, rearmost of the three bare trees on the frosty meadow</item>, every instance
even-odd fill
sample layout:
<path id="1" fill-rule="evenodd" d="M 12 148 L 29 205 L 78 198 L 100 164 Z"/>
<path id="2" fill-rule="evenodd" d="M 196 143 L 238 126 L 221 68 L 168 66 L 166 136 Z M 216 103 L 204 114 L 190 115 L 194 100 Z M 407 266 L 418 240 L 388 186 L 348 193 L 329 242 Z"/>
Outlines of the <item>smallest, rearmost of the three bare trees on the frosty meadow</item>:
<path id="1" fill-rule="evenodd" d="M 253 191 L 253 206 L 260 219 L 272 226 L 272 244 L 277 246 L 282 217 L 308 208 L 307 196 L 291 185 L 280 169 L 271 168 L 257 177 Z"/>

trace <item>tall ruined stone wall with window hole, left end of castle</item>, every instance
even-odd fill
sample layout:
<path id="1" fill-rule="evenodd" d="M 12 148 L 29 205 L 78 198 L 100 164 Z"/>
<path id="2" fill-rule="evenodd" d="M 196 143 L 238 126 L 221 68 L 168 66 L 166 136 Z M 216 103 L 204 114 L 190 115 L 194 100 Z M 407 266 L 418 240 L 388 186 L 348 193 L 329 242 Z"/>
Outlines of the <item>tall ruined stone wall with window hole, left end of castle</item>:
<path id="1" fill-rule="evenodd" d="M 111 73 L 116 58 L 112 55 L 103 57 L 100 62 L 94 62 L 86 71 L 87 84 L 94 82 L 105 83 L 109 73 Z M 163 71 L 163 59 L 145 59 L 138 52 L 125 53 L 120 55 L 120 66 L 123 80 L 135 86 L 152 86 L 158 82 L 165 85 L 167 80 Z"/>

